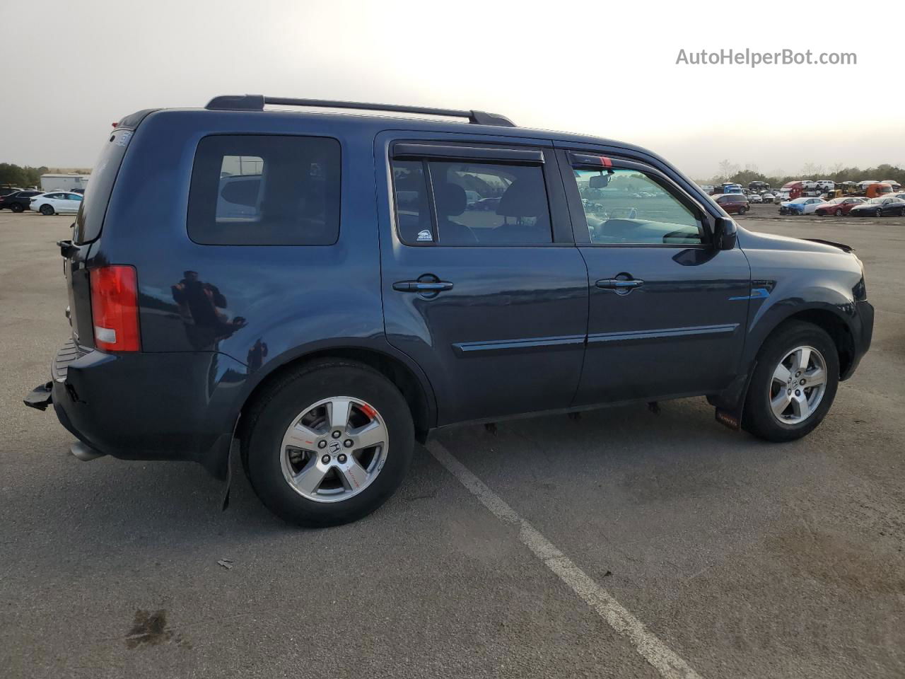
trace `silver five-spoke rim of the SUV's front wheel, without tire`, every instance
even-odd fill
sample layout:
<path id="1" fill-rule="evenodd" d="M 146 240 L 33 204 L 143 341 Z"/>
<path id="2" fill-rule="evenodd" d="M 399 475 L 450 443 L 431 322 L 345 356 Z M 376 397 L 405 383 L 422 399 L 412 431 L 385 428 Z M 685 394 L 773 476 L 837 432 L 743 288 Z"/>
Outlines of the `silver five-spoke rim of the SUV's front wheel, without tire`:
<path id="1" fill-rule="evenodd" d="M 789 351 L 773 371 L 769 399 L 773 416 L 799 425 L 814 414 L 826 391 L 826 361 L 814 347 Z"/>

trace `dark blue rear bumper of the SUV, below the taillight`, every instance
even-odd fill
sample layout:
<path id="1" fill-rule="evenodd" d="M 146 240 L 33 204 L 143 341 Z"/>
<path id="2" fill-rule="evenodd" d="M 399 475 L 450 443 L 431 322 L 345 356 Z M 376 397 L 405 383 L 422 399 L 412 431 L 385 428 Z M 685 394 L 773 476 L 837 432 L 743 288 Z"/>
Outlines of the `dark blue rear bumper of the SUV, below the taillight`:
<path id="1" fill-rule="evenodd" d="M 245 367 L 215 352 L 108 354 L 67 342 L 43 391 L 64 426 L 100 454 L 126 460 L 190 460 L 227 473 Z M 32 403 L 29 403 L 29 400 Z"/>

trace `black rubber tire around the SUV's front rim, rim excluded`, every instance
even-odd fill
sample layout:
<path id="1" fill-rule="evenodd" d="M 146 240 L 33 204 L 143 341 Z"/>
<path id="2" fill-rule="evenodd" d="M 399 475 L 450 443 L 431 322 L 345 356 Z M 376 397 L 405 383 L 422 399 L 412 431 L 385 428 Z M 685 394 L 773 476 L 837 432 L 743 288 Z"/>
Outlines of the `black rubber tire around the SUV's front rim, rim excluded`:
<path id="1" fill-rule="evenodd" d="M 780 422 L 770 408 L 770 385 L 773 372 L 780 360 L 790 350 L 799 346 L 817 349 L 826 364 L 826 386 L 824 396 L 814 408 L 811 416 L 798 424 Z M 748 386 L 742 428 L 750 434 L 767 441 L 783 443 L 810 434 L 824 420 L 833 406 L 836 389 L 839 387 L 839 353 L 833 339 L 825 330 L 812 323 L 798 320 L 788 321 L 773 331 L 757 353 L 757 368 Z"/>

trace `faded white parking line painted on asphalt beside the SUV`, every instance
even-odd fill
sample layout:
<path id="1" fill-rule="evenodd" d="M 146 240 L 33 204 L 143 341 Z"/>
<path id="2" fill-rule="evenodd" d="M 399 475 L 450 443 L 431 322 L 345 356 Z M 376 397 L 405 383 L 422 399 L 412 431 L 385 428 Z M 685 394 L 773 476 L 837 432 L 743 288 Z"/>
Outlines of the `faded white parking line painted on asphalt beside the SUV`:
<path id="1" fill-rule="evenodd" d="M 519 528 L 519 540 L 543 561 L 547 568 L 559 576 L 578 597 L 592 607 L 613 629 L 625 636 L 634 649 L 666 679 L 700 679 L 700 674 L 691 669 L 684 660 L 654 636 L 606 590 L 591 579 L 584 570 L 552 542 L 541 535 L 528 521 L 519 516 L 499 495 L 493 493 L 477 476 L 437 441 L 427 444 L 427 449 L 440 464 L 443 464 L 494 516 L 504 523 Z"/>

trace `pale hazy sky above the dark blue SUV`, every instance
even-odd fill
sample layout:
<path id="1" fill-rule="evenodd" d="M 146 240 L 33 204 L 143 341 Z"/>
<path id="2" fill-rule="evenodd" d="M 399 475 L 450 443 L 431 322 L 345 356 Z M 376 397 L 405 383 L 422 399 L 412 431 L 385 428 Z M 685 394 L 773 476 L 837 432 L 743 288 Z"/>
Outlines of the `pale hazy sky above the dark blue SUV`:
<path id="1" fill-rule="evenodd" d="M 0 95 L 0 162 L 90 167 L 123 115 L 250 92 L 489 110 L 651 148 L 700 179 L 724 159 L 767 175 L 901 167 L 905 58 L 864 11 L 829 0 L 29 0 L 26 20 L 0 0 L 0 26 L 28 24 L 0 40 L 15 83 Z M 857 64 L 677 63 L 681 50 L 729 49 L 855 53 Z"/>

